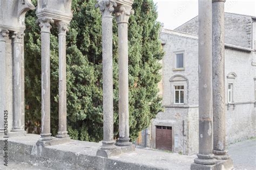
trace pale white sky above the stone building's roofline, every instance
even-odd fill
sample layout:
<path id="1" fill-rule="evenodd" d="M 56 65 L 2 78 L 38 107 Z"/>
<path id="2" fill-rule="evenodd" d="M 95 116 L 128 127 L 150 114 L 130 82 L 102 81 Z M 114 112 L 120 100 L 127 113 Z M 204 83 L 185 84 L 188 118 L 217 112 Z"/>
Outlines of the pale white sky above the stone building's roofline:
<path id="1" fill-rule="evenodd" d="M 158 21 L 166 29 L 176 29 L 198 15 L 198 0 L 153 0 L 158 6 Z M 256 17 L 256 0 L 226 0 L 225 12 Z"/>

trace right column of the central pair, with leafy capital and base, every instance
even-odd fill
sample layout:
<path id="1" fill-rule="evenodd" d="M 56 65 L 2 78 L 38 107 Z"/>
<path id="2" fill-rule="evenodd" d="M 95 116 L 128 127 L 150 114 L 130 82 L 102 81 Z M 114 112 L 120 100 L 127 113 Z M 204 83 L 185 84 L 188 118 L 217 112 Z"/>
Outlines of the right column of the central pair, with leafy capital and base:
<path id="1" fill-rule="evenodd" d="M 130 146 L 129 138 L 129 82 L 128 82 L 128 21 L 132 6 L 118 5 L 115 9 L 118 24 L 118 87 L 119 138 L 118 146 Z"/>

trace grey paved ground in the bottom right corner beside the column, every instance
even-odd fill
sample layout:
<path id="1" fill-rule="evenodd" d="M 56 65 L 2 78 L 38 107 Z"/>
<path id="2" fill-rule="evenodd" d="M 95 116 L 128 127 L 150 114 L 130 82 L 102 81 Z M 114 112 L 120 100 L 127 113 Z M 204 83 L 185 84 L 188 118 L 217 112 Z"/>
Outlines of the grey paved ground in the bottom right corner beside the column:
<path id="1" fill-rule="evenodd" d="M 228 147 L 235 169 L 256 169 L 256 139 L 241 141 Z"/>

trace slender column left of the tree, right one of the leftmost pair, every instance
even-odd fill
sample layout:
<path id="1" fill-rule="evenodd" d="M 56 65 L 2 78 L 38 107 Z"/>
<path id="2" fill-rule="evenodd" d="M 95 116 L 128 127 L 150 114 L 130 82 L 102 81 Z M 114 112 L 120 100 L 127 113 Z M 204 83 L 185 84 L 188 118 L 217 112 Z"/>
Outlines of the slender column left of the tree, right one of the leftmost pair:
<path id="1" fill-rule="evenodd" d="M 12 132 L 24 131 L 22 126 L 22 39 L 23 33 L 12 35 L 12 52 L 14 56 L 14 124 Z"/>

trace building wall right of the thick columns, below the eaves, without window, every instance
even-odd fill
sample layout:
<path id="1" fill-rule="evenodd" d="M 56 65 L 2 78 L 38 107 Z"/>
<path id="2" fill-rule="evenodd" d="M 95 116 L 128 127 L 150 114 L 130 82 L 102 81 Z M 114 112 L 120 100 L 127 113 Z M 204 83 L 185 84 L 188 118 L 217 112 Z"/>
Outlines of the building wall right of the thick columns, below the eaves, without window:
<path id="1" fill-rule="evenodd" d="M 225 75 L 235 73 L 234 105 L 226 105 L 227 143 L 235 143 L 256 136 L 254 108 L 254 77 L 256 67 L 252 66 L 253 52 L 225 49 Z M 226 91 L 227 91 L 227 79 Z M 226 93 L 227 103 L 227 93 Z"/>

